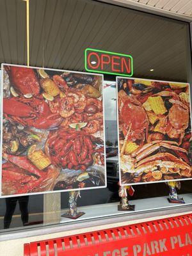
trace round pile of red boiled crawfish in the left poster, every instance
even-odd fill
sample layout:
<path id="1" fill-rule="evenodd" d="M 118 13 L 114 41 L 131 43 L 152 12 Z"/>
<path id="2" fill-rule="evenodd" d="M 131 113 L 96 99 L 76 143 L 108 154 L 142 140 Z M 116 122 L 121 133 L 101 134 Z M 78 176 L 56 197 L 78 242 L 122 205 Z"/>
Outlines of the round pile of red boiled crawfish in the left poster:
<path id="1" fill-rule="evenodd" d="M 86 170 L 93 164 L 93 154 L 99 151 L 92 135 L 74 129 L 50 133 L 45 145 L 45 152 L 53 164 L 74 170 Z"/>

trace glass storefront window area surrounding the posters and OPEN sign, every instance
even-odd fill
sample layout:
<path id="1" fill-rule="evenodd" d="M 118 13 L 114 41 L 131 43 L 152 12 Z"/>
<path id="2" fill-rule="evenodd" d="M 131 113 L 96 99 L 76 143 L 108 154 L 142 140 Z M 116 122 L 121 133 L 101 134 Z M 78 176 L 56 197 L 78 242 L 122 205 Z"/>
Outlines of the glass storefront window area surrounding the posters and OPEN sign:
<path id="1" fill-rule="evenodd" d="M 0 3 L 1 63 L 27 65 L 25 1 L 6 0 Z M 164 81 L 190 81 L 191 50 L 189 24 L 166 19 L 91 0 L 30 1 L 29 63 L 33 67 L 84 70 L 84 50 L 87 47 L 131 54 L 134 77 Z M 77 199 L 79 220 L 126 214 L 118 212 L 118 148 L 116 123 L 116 77 L 104 76 L 104 112 L 106 132 L 107 188 L 81 191 Z M 165 183 L 134 186 L 134 204 L 140 199 L 168 196 Z M 191 181 L 182 181 L 179 194 L 191 204 Z M 61 214 L 68 208 L 68 193 L 61 198 L 54 193 L 56 208 Z M 54 196 L 52 195 L 52 196 Z M 33 225 L 65 223 L 67 218 L 54 219 L 51 195 L 30 195 L 24 198 L 0 199 L 0 230 L 28 228 Z M 166 198 L 164 198 L 164 201 Z M 169 204 L 164 204 L 169 207 Z M 81 208 L 82 207 L 82 208 Z M 141 206 L 140 206 L 141 207 Z M 147 204 L 143 209 L 150 210 Z M 153 206 L 152 206 L 153 207 Z M 158 208 L 156 204 L 154 207 Z M 142 208 L 142 207 L 141 207 Z M 49 211 L 52 212 L 48 218 Z M 20 218 L 22 212 L 22 218 Z M 29 219 L 28 219 L 29 218 Z"/>

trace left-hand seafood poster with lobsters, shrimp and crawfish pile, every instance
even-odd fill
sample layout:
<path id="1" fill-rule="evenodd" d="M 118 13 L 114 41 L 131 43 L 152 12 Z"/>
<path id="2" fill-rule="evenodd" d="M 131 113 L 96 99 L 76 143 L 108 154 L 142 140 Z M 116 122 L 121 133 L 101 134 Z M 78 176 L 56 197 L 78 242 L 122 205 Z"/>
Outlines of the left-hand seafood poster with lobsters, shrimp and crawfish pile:
<path id="1" fill-rule="evenodd" d="M 103 76 L 1 70 L 1 197 L 105 188 Z"/>

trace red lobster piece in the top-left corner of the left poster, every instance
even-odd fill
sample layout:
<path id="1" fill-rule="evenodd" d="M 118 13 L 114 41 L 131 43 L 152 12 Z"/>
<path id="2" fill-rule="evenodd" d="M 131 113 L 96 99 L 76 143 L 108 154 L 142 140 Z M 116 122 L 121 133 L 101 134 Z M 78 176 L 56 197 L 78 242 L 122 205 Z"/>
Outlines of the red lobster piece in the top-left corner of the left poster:
<path id="1" fill-rule="evenodd" d="M 10 77 L 10 83 L 23 95 L 38 95 L 40 92 L 40 84 L 35 75 L 33 68 L 4 66 L 4 69 Z"/>

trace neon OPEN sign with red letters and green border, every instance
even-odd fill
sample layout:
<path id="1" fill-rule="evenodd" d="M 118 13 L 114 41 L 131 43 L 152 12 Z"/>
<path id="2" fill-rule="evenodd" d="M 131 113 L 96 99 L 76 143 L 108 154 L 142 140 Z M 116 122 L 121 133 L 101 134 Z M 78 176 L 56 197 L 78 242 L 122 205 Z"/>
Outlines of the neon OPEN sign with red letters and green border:
<path id="1" fill-rule="evenodd" d="M 86 71 L 95 73 L 133 75 L 132 56 L 116 52 L 87 48 L 84 51 L 84 67 Z"/>

